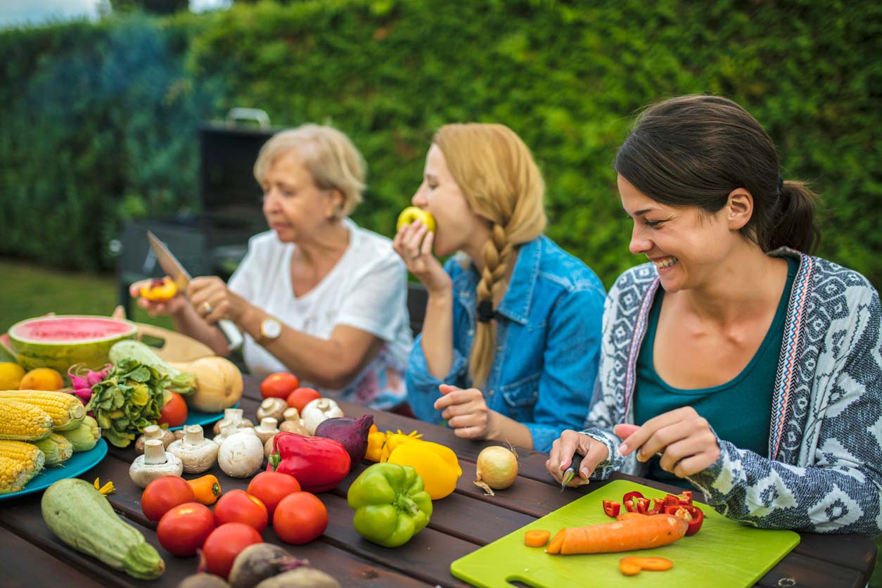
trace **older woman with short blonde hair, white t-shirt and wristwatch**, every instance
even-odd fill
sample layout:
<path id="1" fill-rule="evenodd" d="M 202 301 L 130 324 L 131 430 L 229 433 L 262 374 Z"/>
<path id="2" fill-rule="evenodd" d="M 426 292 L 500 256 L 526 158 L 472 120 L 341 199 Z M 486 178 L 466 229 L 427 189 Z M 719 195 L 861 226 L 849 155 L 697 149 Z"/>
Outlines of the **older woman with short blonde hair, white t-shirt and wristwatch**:
<path id="1" fill-rule="evenodd" d="M 325 395 L 402 405 L 407 272 L 389 239 L 348 219 L 362 201 L 361 154 L 339 130 L 307 124 L 270 138 L 254 176 L 272 230 L 250 239 L 229 284 L 196 278 L 185 295 L 138 304 L 221 355 L 226 339 L 214 324 L 235 322 L 255 375 L 290 370 Z"/>

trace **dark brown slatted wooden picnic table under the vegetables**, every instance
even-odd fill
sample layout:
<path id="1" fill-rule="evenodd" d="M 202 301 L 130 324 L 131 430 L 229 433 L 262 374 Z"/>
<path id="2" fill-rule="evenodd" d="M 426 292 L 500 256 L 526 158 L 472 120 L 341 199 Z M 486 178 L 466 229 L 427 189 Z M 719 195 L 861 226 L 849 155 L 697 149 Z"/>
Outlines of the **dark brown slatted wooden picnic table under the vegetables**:
<path id="1" fill-rule="evenodd" d="M 253 419 L 260 400 L 259 381 L 246 377 L 242 407 Z M 346 491 L 355 476 L 367 465 L 358 465 L 338 488 L 319 497 L 328 510 L 329 525 L 325 534 L 305 546 L 281 543 L 272 526 L 263 532 L 264 540 L 279 544 L 298 557 L 307 558 L 318 569 L 329 572 L 342 586 L 467 586 L 450 573 L 451 562 L 504 535 L 527 525 L 538 517 L 572 502 L 577 495 L 602 487 L 606 482 L 592 482 L 585 488 L 559 492 L 545 471 L 547 455 L 519 450 L 518 480 L 496 496 L 484 495 L 475 487 L 475 459 L 490 443 L 477 443 L 453 435 L 448 428 L 415 421 L 393 413 L 341 403 L 350 416 L 373 413 L 381 429 L 419 429 L 425 438 L 445 443 L 456 451 L 462 466 L 456 491 L 434 503 L 429 526 L 402 547 L 387 549 L 363 540 L 352 526 L 352 510 Z M 0 569 L 6 588 L 32 586 L 176 586 L 196 572 L 195 557 L 178 558 L 168 554 L 156 538 L 156 524 L 148 521 L 140 508 L 141 489 L 129 478 L 129 465 L 135 457 L 130 447 L 112 448 L 108 456 L 81 478 L 91 482 L 96 477 L 113 480 L 116 491 L 108 496 L 114 509 L 143 532 L 166 562 L 166 572 L 158 580 L 142 582 L 87 555 L 57 539 L 43 524 L 40 512 L 41 493 L 0 501 Z M 234 480 L 215 466 L 211 471 L 221 480 L 222 488 L 246 488 L 248 480 Z M 201 474 L 200 474 L 201 475 Z M 187 476 L 190 478 L 191 476 Z M 662 491 L 676 491 L 664 484 L 614 474 L 612 480 L 632 480 Z M 784 557 L 758 586 L 863 587 L 875 564 L 876 547 L 859 535 L 820 535 L 801 533 L 801 542 Z"/>

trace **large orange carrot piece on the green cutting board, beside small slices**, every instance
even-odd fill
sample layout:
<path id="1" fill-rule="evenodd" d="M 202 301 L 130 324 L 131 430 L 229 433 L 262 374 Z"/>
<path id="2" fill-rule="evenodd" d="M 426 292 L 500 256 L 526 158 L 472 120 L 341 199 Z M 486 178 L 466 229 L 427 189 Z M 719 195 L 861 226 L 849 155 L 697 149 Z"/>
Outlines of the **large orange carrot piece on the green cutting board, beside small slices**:
<path id="1" fill-rule="evenodd" d="M 689 523 L 682 517 L 654 515 L 562 529 L 546 548 L 549 554 L 610 554 L 668 545 L 683 539 Z M 559 540 L 558 540 L 559 538 Z"/>

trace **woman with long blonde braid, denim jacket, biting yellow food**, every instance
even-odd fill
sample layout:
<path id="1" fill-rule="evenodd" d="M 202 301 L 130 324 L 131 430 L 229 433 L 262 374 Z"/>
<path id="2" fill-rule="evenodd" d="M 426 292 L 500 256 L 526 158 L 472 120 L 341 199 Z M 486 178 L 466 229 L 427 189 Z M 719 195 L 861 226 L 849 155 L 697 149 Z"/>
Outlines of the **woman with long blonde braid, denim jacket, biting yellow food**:
<path id="1" fill-rule="evenodd" d="M 416 220 L 392 242 L 429 293 L 407 365 L 414 413 L 540 451 L 585 421 L 605 299 L 594 272 L 542 234 L 544 191 L 512 130 L 445 125 L 413 197 L 437 229 Z"/>

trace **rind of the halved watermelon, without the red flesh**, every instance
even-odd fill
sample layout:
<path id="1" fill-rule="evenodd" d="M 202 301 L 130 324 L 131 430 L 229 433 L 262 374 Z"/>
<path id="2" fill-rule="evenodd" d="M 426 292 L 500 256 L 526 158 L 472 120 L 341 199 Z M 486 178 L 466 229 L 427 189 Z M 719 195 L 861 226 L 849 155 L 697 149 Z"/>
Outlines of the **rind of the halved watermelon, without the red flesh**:
<path id="1" fill-rule="evenodd" d="M 34 321 L 68 321 L 70 328 L 75 329 L 76 323 L 82 320 L 93 321 L 99 319 L 108 323 L 116 323 L 125 327 L 123 332 L 114 333 L 105 337 L 83 340 L 49 341 L 42 339 L 26 339 L 18 331 L 24 331 L 28 323 Z M 64 374 L 67 368 L 76 363 L 85 363 L 87 368 L 100 368 L 108 363 L 110 347 L 123 339 L 134 339 L 138 333 L 138 327 L 129 321 L 108 316 L 90 315 L 59 315 L 59 316 L 34 316 L 9 328 L 9 342 L 15 359 L 22 368 L 54 368 Z"/>

